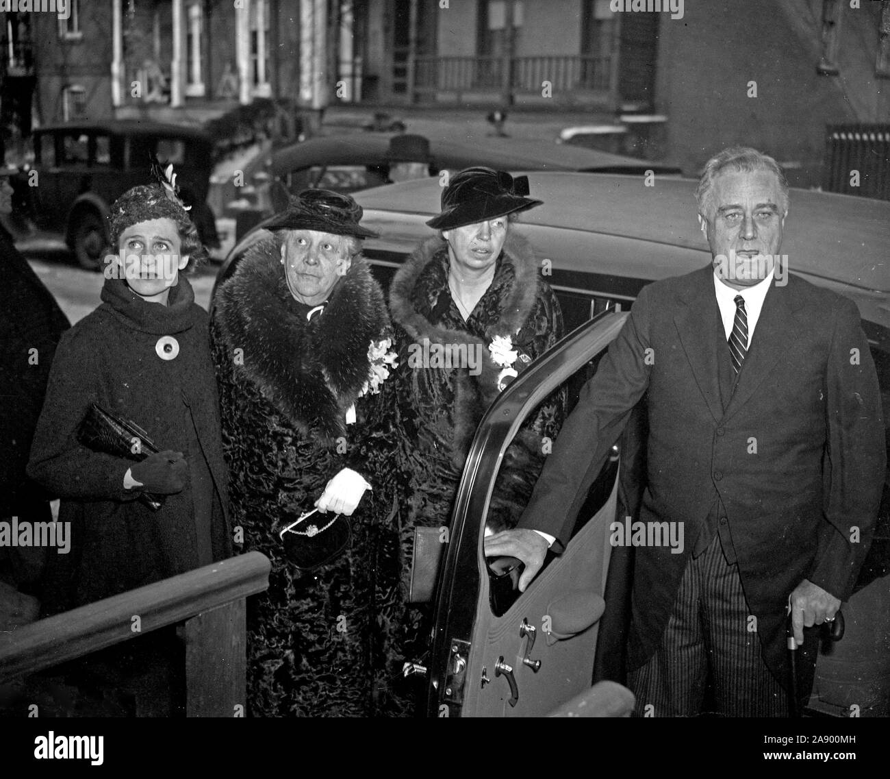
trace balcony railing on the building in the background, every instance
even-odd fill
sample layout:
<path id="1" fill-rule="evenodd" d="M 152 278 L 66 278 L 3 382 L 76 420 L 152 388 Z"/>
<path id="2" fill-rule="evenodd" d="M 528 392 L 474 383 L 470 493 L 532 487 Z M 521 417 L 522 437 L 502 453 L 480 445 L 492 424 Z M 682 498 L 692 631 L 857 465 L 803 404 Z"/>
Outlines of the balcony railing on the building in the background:
<path id="1" fill-rule="evenodd" d="M 506 84 L 503 57 L 417 57 L 415 90 L 424 93 L 468 93 L 498 90 L 538 93 L 550 85 L 554 95 L 609 93 L 612 80 L 610 56 L 514 57 Z"/>

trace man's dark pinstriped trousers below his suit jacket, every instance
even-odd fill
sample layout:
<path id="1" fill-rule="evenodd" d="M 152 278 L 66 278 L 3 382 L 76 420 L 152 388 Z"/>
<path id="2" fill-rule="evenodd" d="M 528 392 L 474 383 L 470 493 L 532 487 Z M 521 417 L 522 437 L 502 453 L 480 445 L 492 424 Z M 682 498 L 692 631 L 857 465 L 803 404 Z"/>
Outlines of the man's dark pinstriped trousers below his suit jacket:
<path id="1" fill-rule="evenodd" d="M 754 628 L 754 629 L 752 629 Z M 631 671 L 635 717 L 787 717 L 786 694 L 766 667 L 737 564 L 715 535 L 686 564 L 658 651 Z"/>

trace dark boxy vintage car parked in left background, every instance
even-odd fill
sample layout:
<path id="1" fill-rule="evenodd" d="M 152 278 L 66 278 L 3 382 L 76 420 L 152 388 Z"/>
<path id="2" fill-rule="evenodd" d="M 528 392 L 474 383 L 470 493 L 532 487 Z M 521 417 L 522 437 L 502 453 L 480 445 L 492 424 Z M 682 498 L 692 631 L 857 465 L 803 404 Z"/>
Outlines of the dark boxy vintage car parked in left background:
<path id="1" fill-rule="evenodd" d="M 98 269 L 108 245 L 105 215 L 117 197 L 148 183 L 150 155 L 172 162 L 182 198 L 192 206 L 201 239 L 215 241 L 206 206 L 213 144 L 193 127 L 119 120 L 41 127 L 34 134 L 31 188 L 37 225 L 64 233 L 85 268 Z"/>

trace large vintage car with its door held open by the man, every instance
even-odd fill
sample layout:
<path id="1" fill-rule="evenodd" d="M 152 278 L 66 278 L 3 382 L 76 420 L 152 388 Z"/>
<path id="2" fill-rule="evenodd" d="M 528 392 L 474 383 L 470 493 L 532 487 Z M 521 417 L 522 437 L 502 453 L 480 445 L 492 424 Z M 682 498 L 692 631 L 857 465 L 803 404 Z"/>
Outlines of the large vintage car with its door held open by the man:
<path id="1" fill-rule="evenodd" d="M 647 186 L 643 176 L 531 172 L 529 177 L 531 192 L 544 205 L 522 214 L 514 229 L 537 248 L 566 329 L 575 330 L 498 397 L 476 432 L 440 573 L 433 656 L 427 664 L 432 716 L 546 714 L 583 694 L 592 679 L 620 677 L 616 637 L 626 616 L 627 559 L 613 554 L 607 530 L 616 514 L 635 513 L 640 481 L 631 478 L 619 502 L 613 458 L 588 493 L 568 548 L 522 595 L 505 573 L 509 561 L 482 555 L 488 501 L 500 455 L 522 419 L 554 386 L 567 385 L 570 399 L 577 400 L 579 386 L 595 370 L 640 289 L 710 261 L 695 219 L 694 181 L 656 176 L 654 186 Z M 440 195 L 433 179 L 353 196 L 365 209 L 362 224 L 380 233 L 365 241 L 364 254 L 384 286 L 431 234 L 425 220 L 438 213 Z M 890 203 L 797 190 L 791 191 L 790 203 L 781 247 L 787 268 L 859 306 L 884 408 L 890 411 Z M 232 251 L 217 285 L 263 235 L 268 233 L 254 231 Z M 644 429 L 641 413 L 634 434 Z M 622 442 L 631 477 L 642 474 L 633 444 L 633 435 Z M 862 716 L 890 714 L 888 572 L 890 472 L 876 539 L 858 589 L 844 605 L 846 636 L 821 655 L 817 667 L 812 713 L 848 716 L 856 706 Z M 572 626 L 549 626 L 563 634 L 562 640 L 542 635 L 545 614 Z"/>

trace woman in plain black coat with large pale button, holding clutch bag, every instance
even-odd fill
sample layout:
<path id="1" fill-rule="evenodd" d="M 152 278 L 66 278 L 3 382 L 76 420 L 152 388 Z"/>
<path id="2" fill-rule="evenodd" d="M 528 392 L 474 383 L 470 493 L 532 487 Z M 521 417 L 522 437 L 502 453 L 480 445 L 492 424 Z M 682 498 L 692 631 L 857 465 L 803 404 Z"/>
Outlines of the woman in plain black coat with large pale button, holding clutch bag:
<path id="1" fill-rule="evenodd" d="M 28 464 L 61 496 L 59 521 L 69 523 L 69 552 L 49 556 L 44 615 L 231 554 L 209 323 L 180 273 L 204 253 L 197 231 L 173 192 L 152 185 L 117 199 L 109 234 L 117 255 L 107 257 L 102 304 L 61 339 Z M 93 403 L 140 426 L 161 451 L 136 462 L 85 446 L 77 431 Z M 146 506 L 143 491 L 166 496 L 163 505 Z M 182 669 L 179 649 L 172 635 L 150 634 L 79 667 L 103 666 L 109 687 L 109 671 L 129 671 L 154 650 L 168 655 L 166 670 Z M 152 686 L 182 693 L 166 676 Z M 146 713 L 141 705 L 137 697 Z"/>

